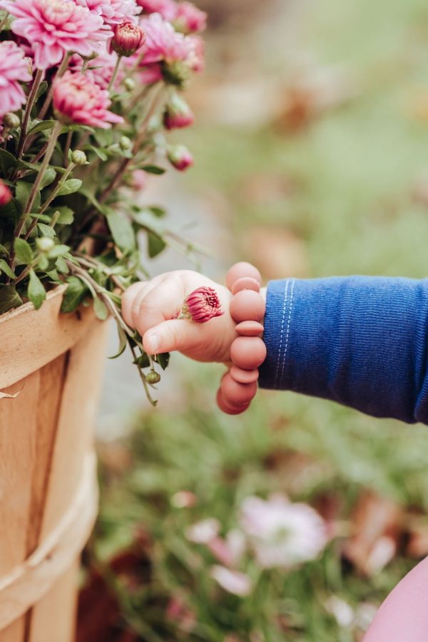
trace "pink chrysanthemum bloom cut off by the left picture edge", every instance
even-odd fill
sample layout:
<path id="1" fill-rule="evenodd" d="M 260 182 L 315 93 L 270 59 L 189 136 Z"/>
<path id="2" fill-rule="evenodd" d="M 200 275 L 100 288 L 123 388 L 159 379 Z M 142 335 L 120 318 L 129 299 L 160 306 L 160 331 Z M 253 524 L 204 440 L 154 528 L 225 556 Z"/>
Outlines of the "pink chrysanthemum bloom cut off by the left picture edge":
<path id="1" fill-rule="evenodd" d="M 12 41 L 0 42 L 0 118 L 24 104 L 26 97 L 19 83 L 29 81 L 24 50 Z"/>

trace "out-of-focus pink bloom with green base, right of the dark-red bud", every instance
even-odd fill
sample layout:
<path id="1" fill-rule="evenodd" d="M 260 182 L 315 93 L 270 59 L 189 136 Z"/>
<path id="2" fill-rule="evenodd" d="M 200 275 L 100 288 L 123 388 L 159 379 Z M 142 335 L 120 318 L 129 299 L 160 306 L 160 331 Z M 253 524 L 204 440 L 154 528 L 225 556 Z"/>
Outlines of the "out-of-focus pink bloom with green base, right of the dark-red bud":
<path id="1" fill-rule="evenodd" d="M 159 14 L 141 21 L 146 33 L 141 66 L 156 66 L 158 74 L 170 84 L 183 86 L 192 71 L 203 68 L 203 51 L 197 36 L 179 34 Z"/>

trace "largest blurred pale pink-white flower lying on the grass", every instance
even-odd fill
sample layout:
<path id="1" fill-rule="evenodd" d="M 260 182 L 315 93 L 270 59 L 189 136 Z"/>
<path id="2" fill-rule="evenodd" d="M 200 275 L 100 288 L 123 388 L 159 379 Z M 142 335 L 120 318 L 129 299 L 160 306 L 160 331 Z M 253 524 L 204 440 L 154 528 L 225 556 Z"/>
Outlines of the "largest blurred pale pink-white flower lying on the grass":
<path id="1" fill-rule="evenodd" d="M 305 503 L 290 503 L 285 496 L 269 501 L 243 501 L 241 527 L 263 568 L 290 567 L 315 559 L 327 543 L 325 523 Z"/>

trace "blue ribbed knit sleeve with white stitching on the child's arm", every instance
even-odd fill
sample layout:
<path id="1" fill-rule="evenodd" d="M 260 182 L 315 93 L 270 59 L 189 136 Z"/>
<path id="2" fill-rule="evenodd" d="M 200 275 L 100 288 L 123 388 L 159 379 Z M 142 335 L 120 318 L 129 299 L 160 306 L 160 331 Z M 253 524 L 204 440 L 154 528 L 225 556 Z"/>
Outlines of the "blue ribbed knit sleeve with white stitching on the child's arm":
<path id="1" fill-rule="evenodd" d="M 260 386 L 428 423 L 428 280 L 272 281 Z"/>

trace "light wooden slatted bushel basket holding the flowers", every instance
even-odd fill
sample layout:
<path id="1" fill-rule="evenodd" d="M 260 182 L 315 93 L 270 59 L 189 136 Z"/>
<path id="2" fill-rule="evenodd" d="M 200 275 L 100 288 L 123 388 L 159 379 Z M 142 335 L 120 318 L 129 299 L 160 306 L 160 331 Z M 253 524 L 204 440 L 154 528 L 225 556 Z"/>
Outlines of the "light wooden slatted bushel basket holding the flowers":
<path id="1" fill-rule="evenodd" d="M 105 326 L 90 308 L 0 316 L 0 640 L 72 642 L 97 511 L 93 418 Z"/>

